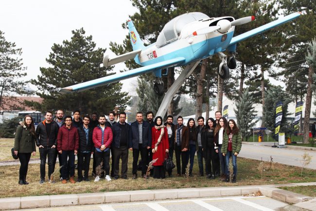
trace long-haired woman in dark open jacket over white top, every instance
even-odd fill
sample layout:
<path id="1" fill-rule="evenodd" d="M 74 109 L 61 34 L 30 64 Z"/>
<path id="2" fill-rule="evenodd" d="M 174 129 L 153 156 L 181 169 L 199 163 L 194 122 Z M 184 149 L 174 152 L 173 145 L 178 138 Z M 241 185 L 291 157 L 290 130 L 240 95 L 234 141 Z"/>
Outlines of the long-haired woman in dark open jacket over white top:
<path id="1" fill-rule="evenodd" d="M 214 130 L 214 144 L 215 144 L 215 152 L 218 154 L 216 156 L 219 157 L 220 169 L 217 169 L 217 173 L 221 171 L 221 181 L 226 181 L 226 166 L 225 166 L 225 157 L 221 153 L 222 144 L 223 144 L 223 136 L 225 134 L 225 130 L 228 127 L 228 122 L 225 117 L 221 117 L 218 120 L 218 124 Z"/>

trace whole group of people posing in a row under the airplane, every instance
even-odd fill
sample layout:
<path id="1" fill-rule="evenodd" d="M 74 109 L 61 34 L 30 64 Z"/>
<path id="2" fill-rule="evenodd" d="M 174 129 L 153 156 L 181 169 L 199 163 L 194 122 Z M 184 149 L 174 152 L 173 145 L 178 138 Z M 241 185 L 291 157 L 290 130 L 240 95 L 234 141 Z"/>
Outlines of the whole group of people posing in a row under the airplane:
<path id="1" fill-rule="evenodd" d="M 182 116 L 176 119 L 168 115 L 163 123 L 161 116 L 154 119 L 153 112 L 143 114 L 137 112 L 136 121 L 126 123 L 126 113 L 110 112 L 108 119 L 105 115 L 93 113 L 81 118 L 80 111 L 64 116 L 62 110 L 45 113 L 45 120 L 36 127 L 32 116 L 24 117 L 24 124 L 18 126 L 15 136 L 14 153 L 21 163 L 18 184 L 28 184 L 26 175 L 31 154 L 35 155 L 38 147 L 40 154 L 40 180 L 45 182 L 45 165 L 48 159 L 48 181 L 53 183 L 52 173 L 58 157 L 60 179 L 62 183 L 75 183 L 75 155 L 77 155 L 77 182 L 89 181 L 89 166 L 91 154 L 93 156 L 92 175 L 105 177 L 105 180 L 119 179 L 119 163 L 121 164 L 122 179 L 127 177 L 128 152 L 133 153 L 132 179 L 138 177 L 165 178 L 164 161 L 176 156 L 176 176 L 182 176 L 190 161 L 189 176 L 193 176 L 194 156 L 197 153 L 199 176 L 204 176 L 203 158 L 205 160 L 206 176 L 215 179 L 220 176 L 222 181 L 236 182 L 237 155 L 241 150 L 241 136 L 234 120 L 222 117 L 221 112 L 215 113 L 215 119 L 209 118 L 204 124 L 202 116 L 197 118 L 197 126 L 193 118 L 183 124 Z M 111 172 L 110 172 L 110 154 Z M 139 161 L 139 155 L 141 160 Z M 229 158 L 232 157 L 233 174 L 229 173 Z M 152 161 L 152 162 L 151 162 Z M 149 171 L 151 162 L 153 169 Z M 98 171 L 100 166 L 104 173 Z M 84 174 L 83 174 L 84 172 Z M 172 177 L 172 170 L 168 170 Z"/>

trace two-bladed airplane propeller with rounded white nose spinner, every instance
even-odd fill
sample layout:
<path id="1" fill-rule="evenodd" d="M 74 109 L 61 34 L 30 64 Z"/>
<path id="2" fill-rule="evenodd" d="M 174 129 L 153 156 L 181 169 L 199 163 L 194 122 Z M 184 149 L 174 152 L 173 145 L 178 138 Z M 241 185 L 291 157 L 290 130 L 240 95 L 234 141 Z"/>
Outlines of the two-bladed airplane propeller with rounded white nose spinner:
<path id="1" fill-rule="evenodd" d="M 221 19 L 217 22 L 216 26 L 210 26 L 203 29 L 199 29 L 193 32 L 192 34 L 193 36 L 204 35 L 204 34 L 214 32 L 216 30 L 218 30 L 220 33 L 226 33 L 230 29 L 231 26 L 239 26 L 239 25 L 248 23 L 254 19 L 255 19 L 254 16 L 248 16 L 248 17 L 236 19 L 231 22 L 227 19 Z"/>

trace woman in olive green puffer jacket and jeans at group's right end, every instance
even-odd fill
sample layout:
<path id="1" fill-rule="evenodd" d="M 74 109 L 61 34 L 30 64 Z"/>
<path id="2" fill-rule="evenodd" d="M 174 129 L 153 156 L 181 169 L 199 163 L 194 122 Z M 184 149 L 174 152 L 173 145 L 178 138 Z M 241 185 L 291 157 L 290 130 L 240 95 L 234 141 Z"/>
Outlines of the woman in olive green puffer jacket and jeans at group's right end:
<path id="1" fill-rule="evenodd" d="M 237 155 L 239 154 L 242 148 L 242 139 L 239 134 L 239 129 L 236 125 L 236 122 L 233 119 L 229 119 L 228 128 L 223 137 L 223 145 L 221 153 L 225 156 L 226 159 L 226 181 L 229 182 L 229 157 L 232 159 L 233 166 L 233 179 L 232 182 L 236 182 L 237 176 Z"/>

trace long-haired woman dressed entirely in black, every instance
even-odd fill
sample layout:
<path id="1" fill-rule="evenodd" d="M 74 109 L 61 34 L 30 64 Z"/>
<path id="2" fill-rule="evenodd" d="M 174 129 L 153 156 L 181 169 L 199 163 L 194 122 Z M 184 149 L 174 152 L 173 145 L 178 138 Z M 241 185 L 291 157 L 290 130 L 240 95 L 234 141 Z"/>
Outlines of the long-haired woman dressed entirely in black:
<path id="1" fill-rule="evenodd" d="M 202 136 L 205 171 L 206 176 L 209 179 L 215 179 L 214 174 L 217 169 L 217 164 L 215 162 L 214 125 L 215 120 L 213 118 L 209 118 L 206 121 L 205 130 Z"/>

